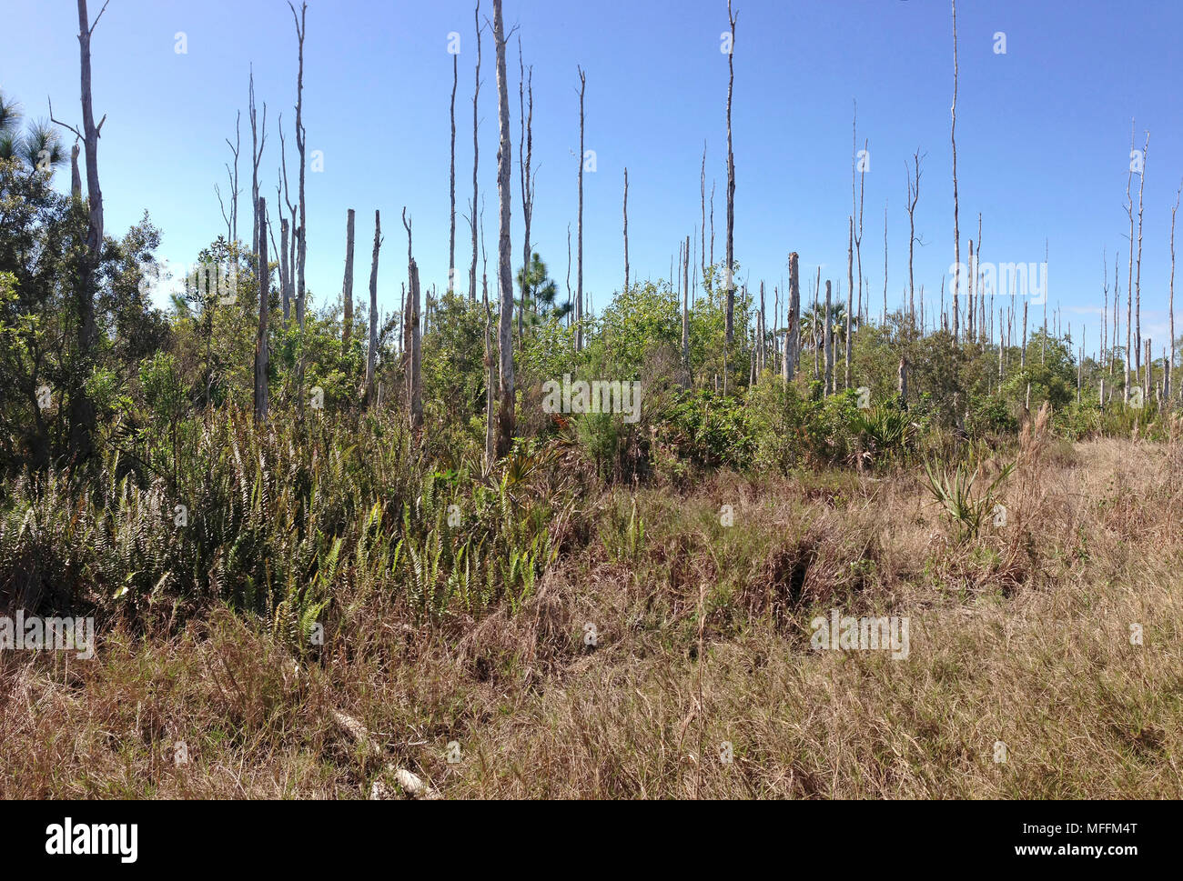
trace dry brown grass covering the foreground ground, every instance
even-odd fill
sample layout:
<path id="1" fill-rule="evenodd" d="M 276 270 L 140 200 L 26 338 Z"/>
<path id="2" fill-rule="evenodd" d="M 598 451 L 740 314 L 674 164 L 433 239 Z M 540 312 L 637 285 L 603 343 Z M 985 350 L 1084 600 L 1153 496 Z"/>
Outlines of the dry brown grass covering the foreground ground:
<path id="1" fill-rule="evenodd" d="M 970 544 L 916 473 L 717 475 L 639 492 L 644 538 L 603 498 L 516 615 L 416 630 L 373 597 L 303 666 L 226 611 L 6 653 L 0 797 L 363 798 L 395 769 L 447 798 L 1183 797 L 1178 445 L 1042 428 Z M 909 616 L 910 656 L 812 650 L 830 608 Z"/>

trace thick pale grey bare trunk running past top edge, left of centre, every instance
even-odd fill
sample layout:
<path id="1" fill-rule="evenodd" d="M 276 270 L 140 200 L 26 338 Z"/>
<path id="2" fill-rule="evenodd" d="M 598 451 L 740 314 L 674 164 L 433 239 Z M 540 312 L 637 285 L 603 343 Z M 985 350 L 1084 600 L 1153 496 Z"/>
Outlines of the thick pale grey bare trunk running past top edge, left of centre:
<path id="1" fill-rule="evenodd" d="M 497 193 L 500 201 L 500 234 L 498 242 L 498 277 L 500 279 L 500 319 L 498 346 L 500 350 L 500 376 L 498 377 L 498 397 L 500 404 L 497 412 L 498 459 L 510 452 L 513 443 L 513 270 L 510 266 L 510 214 L 512 209 L 512 192 L 510 190 L 510 96 L 505 76 L 505 27 L 502 24 L 502 0 L 493 0 L 493 41 L 497 45 L 497 98 L 498 124 L 500 130 L 500 150 L 497 154 Z M 581 72 L 582 79 L 582 72 Z M 582 104 L 582 98 L 581 98 Z M 582 106 L 581 106 L 582 117 Z M 580 128 L 582 129 L 582 122 Z M 582 137 L 581 137 L 582 142 Z M 582 143 L 581 143 L 582 147 Z M 580 162 L 580 182 L 583 180 L 582 158 Z M 582 202 L 582 197 L 581 197 Z M 582 251 L 583 219 L 580 212 L 580 292 L 582 296 Z M 577 331 L 576 331 L 577 332 Z"/>

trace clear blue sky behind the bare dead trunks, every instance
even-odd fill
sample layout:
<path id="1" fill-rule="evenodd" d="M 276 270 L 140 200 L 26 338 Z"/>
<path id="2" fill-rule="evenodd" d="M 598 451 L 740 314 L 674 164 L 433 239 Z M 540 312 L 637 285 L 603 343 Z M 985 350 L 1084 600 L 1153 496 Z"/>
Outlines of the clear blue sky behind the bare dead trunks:
<path id="1" fill-rule="evenodd" d="M 91 15 L 98 0 L 91 0 Z M 884 203 L 888 206 L 890 303 L 906 283 L 905 158 L 924 164 L 917 229 L 917 285 L 930 302 L 952 261 L 949 106 L 952 92 L 946 0 L 738 0 L 733 110 L 737 168 L 736 258 L 750 287 L 781 284 L 787 254 L 802 274 L 845 280 L 851 213 L 852 102 L 859 141 L 870 138 L 864 274 L 883 298 Z M 457 200 L 472 174 L 476 44 L 468 2 L 311 0 L 305 47 L 305 125 L 322 174 L 309 174 L 309 286 L 318 303 L 341 289 L 348 208 L 357 209 L 356 285 L 368 279 L 373 212 L 386 246 L 380 303 L 396 307 L 406 277 L 403 206 L 414 218 L 415 257 L 426 284 L 446 286 L 448 232 L 447 34 L 463 34 L 457 96 Z M 492 13 L 491 0 L 481 15 Z M 707 144 L 707 190 L 717 180 L 716 260 L 725 216 L 728 86 L 719 35 L 725 0 L 506 0 L 534 65 L 537 200 L 532 239 L 564 287 L 567 227 L 576 214 L 576 64 L 588 75 L 587 147 L 599 170 L 586 179 L 584 287 L 602 306 L 622 281 L 621 188 L 629 171 L 634 278 L 666 277 L 678 241 L 699 224 L 699 164 Z M 176 54 L 185 32 L 188 53 Z M 1007 34 L 1007 54 L 994 34 Z M 1145 183 L 1143 331 L 1165 336 L 1170 209 L 1183 176 L 1177 48 L 1183 4 L 1146 0 L 963 0 L 958 8 L 961 95 L 958 177 L 963 240 L 983 215 L 985 259 L 1037 263 L 1051 250 L 1051 304 L 1065 307 L 1079 339 L 1099 336 L 1101 250 L 1129 253 L 1123 207 L 1131 117 L 1138 145 L 1151 132 Z M 27 115 L 77 122 L 78 44 L 72 0 L 5 0 L 0 86 Z M 481 190 L 486 240 L 497 234 L 497 109 L 492 39 L 484 39 L 480 95 Z M 225 231 L 215 182 L 225 187 L 224 142 L 247 99 L 253 61 L 267 103 L 263 194 L 274 203 L 277 117 L 287 129 L 295 186 L 296 51 L 284 0 L 111 0 L 95 33 L 95 106 L 108 115 L 99 167 L 111 234 L 144 209 L 163 231 L 161 255 L 179 263 Z M 510 54 L 517 184 L 517 43 Z M 250 130 L 244 123 L 239 233 L 250 238 Z M 59 184 L 69 186 L 69 173 Z M 1134 179 L 1137 187 L 1137 179 Z M 1134 193 L 1137 199 L 1137 193 Z M 274 213 L 272 213 L 274 216 Z M 1183 234 L 1181 234 L 1183 235 Z M 513 255 L 522 213 L 515 196 Z M 458 219 L 457 264 L 468 261 Z M 963 245 L 964 259 L 964 245 Z M 490 268 L 496 264 L 491 254 Z M 494 274 L 491 272 L 491 274 Z M 1125 268 L 1121 270 L 1123 287 Z M 461 278 L 464 273 L 461 272 Z M 466 286 L 466 280 L 458 284 Z M 573 272 L 574 287 L 574 272 Z M 1077 311 L 1073 311 L 1077 310 Z M 874 310 L 878 312 L 878 306 Z M 1033 323 L 1035 317 L 1033 316 Z M 1123 332 L 1124 336 L 1124 332 Z"/>

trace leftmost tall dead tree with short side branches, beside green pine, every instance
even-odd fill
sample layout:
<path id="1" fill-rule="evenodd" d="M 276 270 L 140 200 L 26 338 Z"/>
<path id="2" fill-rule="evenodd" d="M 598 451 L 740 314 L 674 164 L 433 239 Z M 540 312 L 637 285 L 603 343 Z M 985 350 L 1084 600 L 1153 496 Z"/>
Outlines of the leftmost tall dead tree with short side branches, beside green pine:
<path id="1" fill-rule="evenodd" d="M 110 0 L 108 0 L 110 2 Z M 86 254 L 79 263 L 78 289 L 76 302 L 78 307 L 77 342 L 78 355 L 85 363 L 97 341 L 98 330 L 95 324 L 95 273 L 103 250 L 103 190 L 98 186 L 98 138 L 103 131 L 106 116 L 95 124 L 95 105 L 91 97 L 90 39 L 98 27 L 99 19 L 106 12 L 106 4 L 98 11 L 95 21 L 90 21 L 86 12 L 86 0 L 78 0 L 78 52 L 82 78 L 82 131 L 53 118 L 53 104 L 50 103 L 50 119 L 69 129 L 83 142 L 86 151 Z M 93 447 L 95 404 L 84 388 L 73 389 L 70 395 L 70 452 L 76 459 L 86 459 Z"/>

